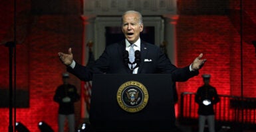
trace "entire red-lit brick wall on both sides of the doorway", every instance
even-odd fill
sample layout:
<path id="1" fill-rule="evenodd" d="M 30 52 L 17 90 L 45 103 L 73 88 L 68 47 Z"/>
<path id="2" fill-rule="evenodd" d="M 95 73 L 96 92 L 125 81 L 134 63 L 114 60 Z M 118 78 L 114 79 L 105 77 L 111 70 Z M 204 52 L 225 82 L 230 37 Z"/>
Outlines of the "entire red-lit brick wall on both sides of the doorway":
<path id="1" fill-rule="evenodd" d="M 0 0 L 0 86 L 9 86 L 9 51 L 3 46 L 6 41 L 12 40 L 13 30 L 13 3 Z M 193 0 L 178 1 L 178 8 L 191 5 L 188 9 L 196 9 Z M 230 0 L 230 9 L 239 9 L 239 0 Z M 32 4 L 33 5 L 33 4 Z M 192 6 L 193 5 L 193 6 Z M 29 108 L 17 109 L 17 121 L 25 124 L 30 131 L 39 131 L 37 123 L 46 121 L 57 131 L 57 103 L 53 102 L 55 88 L 62 83 L 61 73 L 65 67 L 60 63 L 57 53 L 67 51 L 72 47 L 76 61 L 82 61 L 82 19 L 78 13 L 80 1 L 72 1 L 72 13 L 60 15 L 33 15 L 31 1 L 17 1 L 17 86 L 29 89 Z M 247 0 L 243 9 L 256 23 L 256 3 Z M 66 11 L 66 9 L 63 9 Z M 243 96 L 256 96 L 256 57 L 255 48 L 246 39 L 254 38 L 255 32 L 245 32 L 243 38 L 243 61 L 241 62 L 241 39 L 237 27 L 238 17 L 235 20 L 227 15 L 179 15 L 176 24 L 176 45 L 178 67 L 189 65 L 199 53 L 207 58 L 199 76 L 187 82 L 178 83 L 178 92 L 195 92 L 202 84 L 201 74 L 211 74 L 211 84 L 217 88 L 219 94 L 241 95 L 241 79 L 243 79 Z M 235 22 L 235 23 L 234 23 Z M 256 29 L 255 29 L 256 30 Z M 8 38 L 10 38 L 8 40 Z M 241 77 L 241 64 L 243 76 Z M 71 75 L 71 83 L 80 88 L 80 81 Z M 80 123 L 80 102 L 76 103 L 76 124 Z M 0 108 L 0 131 L 8 131 L 9 109 Z"/>

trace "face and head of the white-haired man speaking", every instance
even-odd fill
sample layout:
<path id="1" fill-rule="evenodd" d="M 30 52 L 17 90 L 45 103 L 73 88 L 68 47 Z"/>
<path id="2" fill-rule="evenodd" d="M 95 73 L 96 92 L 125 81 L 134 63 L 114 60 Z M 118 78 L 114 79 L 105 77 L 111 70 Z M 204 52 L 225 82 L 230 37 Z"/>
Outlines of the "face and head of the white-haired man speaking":
<path id="1" fill-rule="evenodd" d="M 143 24 L 140 24 L 136 13 L 128 13 L 123 16 L 122 32 L 131 44 L 134 44 L 140 38 L 140 32 L 143 30 Z"/>

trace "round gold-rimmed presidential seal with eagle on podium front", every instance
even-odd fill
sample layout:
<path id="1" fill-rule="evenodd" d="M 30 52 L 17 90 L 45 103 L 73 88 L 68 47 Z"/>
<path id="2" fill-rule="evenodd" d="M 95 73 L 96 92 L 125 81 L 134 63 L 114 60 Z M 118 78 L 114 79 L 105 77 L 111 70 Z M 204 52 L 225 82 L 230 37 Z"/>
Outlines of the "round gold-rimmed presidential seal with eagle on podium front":
<path id="1" fill-rule="evenodd" d="M 139 112 L 148 104 L 148 90 L 137 81 L 124 82 L 116 94 L 119 106 L 126 112 Z"/>

